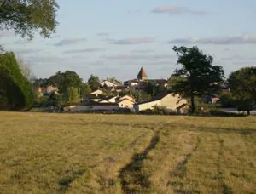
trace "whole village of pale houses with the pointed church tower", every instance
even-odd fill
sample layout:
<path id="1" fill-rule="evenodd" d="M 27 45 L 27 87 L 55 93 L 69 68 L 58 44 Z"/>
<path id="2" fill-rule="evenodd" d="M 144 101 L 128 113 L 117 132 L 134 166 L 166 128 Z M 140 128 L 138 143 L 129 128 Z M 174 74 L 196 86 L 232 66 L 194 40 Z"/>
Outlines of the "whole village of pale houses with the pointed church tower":
<path id="1" fill-rule="evenodd" d="M 89 95 L 84 96 L 83 102 L 72 103 L 64 107 L 64 111 L 68 112 L 81 112 L 81 111 L 145 111 L 153 110 L 156 107 L 161 107 L 169 111 L 184 113 L 189 110 L 188 101 L 178 94 L 165 93 L 156 95 L 148 101 L 137 102 L 134 96 L 125 95 L 125 92 L 130 89 L 144 90 L 148 83 L 160 85 L 165 88 L 168 87 L 166 79 L 148 79 L 146 72 L 143 68 L 137 74 L 137 78 L 127 80 L 121 83 L 114 78 L 107 78 L 102 80 L 100 88 L 92 91 Z M 223 89 L 228 93 L 228 88 Z M 58 89 L 53 86 L 39 88 L 40 94 L 57 93 Z M 167 90 L 166 90 L 167 91 Z M 218 96 L 206 97 L 207 103 L 216 103 Z"/>

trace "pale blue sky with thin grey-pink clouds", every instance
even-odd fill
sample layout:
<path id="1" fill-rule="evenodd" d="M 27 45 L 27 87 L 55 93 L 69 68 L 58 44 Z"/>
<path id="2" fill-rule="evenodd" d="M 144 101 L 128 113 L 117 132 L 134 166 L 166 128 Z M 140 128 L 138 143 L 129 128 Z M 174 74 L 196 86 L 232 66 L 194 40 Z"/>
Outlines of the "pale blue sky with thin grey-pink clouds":
<path id="1" fill-rule="evenodd" d="M 37 77 L 76 71 L 121 81 L 168 78 L 179 68 L 173 46 L 197 45 L 214 65 L 231 71 L 256 66 L 255 0 L 59 0 L 59 26 L 32 41 L 0 31 L 0 44 Z"/>

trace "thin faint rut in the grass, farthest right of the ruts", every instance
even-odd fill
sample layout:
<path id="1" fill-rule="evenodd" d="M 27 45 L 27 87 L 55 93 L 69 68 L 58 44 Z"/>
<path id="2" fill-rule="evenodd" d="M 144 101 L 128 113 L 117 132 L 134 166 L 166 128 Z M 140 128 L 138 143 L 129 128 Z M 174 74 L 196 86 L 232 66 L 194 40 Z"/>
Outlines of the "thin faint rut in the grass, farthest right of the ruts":
<path id="1" fill-rule="evenodd" d="M 222 193 L 224 194 L 231 194 L 233 193 L 231 188 L 224 183 L 223 179 L 223 172 L 221 171 L 221 158 L 223 157 L 223 151 L 224 151 L 224 140 L 222 140 L 219 137 L 219 134 L 217 134 L 218 142 L 219 142 L 219 151 L 218 151 L 218 180 L 222 187 Z"/>

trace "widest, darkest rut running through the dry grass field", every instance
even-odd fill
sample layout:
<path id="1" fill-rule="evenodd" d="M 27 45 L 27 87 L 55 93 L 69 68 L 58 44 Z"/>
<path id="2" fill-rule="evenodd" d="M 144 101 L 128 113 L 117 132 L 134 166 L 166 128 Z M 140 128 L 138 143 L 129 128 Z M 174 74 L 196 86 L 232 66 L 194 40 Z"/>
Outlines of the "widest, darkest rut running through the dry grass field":
<path id="1" fill-rule="evenodd" d="M 143 161 L 147 159 L 149 151 L 153 150 L 158 144 L 160 140 L 159 133 L 160 130 L 156 131 L 148 147 L 143 152 L 135 154 L 131 163 L 120 170 L 119 179 L 125 193 L 149 191 L 150 181 L 148 175 L 142 171 Z"/>

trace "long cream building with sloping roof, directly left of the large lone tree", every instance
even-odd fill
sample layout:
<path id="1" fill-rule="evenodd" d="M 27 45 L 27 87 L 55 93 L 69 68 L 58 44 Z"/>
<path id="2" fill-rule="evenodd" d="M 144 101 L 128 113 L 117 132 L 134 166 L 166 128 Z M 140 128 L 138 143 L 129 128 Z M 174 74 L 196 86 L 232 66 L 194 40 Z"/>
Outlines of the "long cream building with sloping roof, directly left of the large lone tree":
<path id="1" fill-rule="evenodd" d="M 152 100 L 137 103 L 134 105 L 135 111 L 153 110 L 155 107 L 165 107 L 167 110 L 184 113 L 188 111 L 188 101 L 178 94 L 163 94 Z"/>

